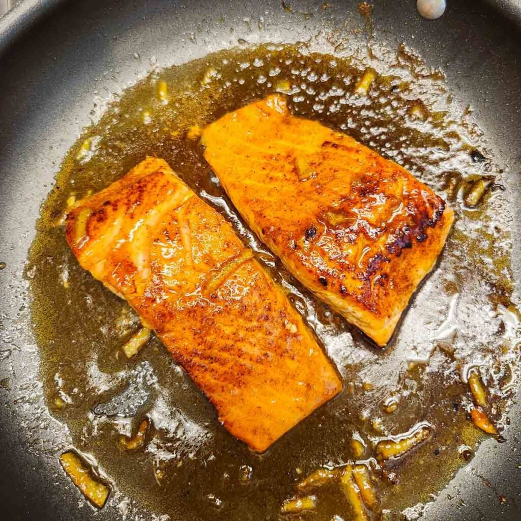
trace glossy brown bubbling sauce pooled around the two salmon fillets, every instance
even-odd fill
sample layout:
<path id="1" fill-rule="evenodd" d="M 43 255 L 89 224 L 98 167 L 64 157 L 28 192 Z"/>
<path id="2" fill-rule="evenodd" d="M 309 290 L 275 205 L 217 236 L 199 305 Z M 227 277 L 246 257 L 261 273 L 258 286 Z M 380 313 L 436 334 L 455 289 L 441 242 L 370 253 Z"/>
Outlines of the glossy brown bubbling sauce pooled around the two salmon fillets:
<path id="1" fill-rule="evenodd" d="M 472 397 L 462 375 L 470 367 L 482 369 L 491 418 L 500 426 L 505 421 L 518 319 L 510 301 L 508 200 L 488 159 L 493 153 L 483 150 L 479 128 L 468 116 L 455 116 L 439 71 L 427 69 L 406 48 L 376 54 L 341 58 L 306 46 L 261 46 L 156 71 L 109 106 L 64 159 L 27 270 L 41 377 L 49 409 L 68 426 L 73 444 L 96 458 L 115 488 L 132 498 L 136 512 L 143 505 L 172 519 L 276 519 L 296 479 L 317 466 L 353 459 L 353 433 L 370 445 L 428 422 L 432 440 L 379 480 L 381 507 L 400 512 L 428 501 L 482 439 L 467 414 Z M 355 95 L 368 66 L 378 76 L 366 96 Z M 386 350 L 375 348 L 287 274 L 231 207 L 198 140 L 187 137 L 197 134 L 195 127 L 276 90 L 288 93 L 295 115 L 347 132 L 402 164 L 456 210 L 439 265 Z M 343 376 L 338 398 L 263 455 L 249 452 L 218 425 L 213 408 L 159 341 L 130 361 L 123 356 L 119 348 L 137 320 L 125 302 L 79 267 L 57 225 L 71 195 L 80 199 L 103 189 L 146 155 L 166 159 L 233 222 L 287 288 Z M 470 208 L 464 196 L 475 176 L 493 182 Z M 389 403 L 397 403 L 396 410 Z M 152 423 L 145 448 L 123 450 L 121 433 L 135 432 L 145 417 Z M 115 506 L 121 494 L 109 503 Z M 317 495 L 309 518 L 349 518 L 338 490 Z M 121 502 L 120 511 L 127 506 Z"/>

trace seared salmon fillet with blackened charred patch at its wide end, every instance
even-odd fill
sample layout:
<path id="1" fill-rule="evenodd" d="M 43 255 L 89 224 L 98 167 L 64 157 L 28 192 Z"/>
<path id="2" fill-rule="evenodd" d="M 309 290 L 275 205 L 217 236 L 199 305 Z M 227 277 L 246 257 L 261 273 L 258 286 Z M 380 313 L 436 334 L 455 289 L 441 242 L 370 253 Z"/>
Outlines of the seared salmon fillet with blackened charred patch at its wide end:
<path id="1" fill-rule="evenodd" d="M 205 158 L 284 265 L 378 345 L 443 249 L 454 214 L 429 187 L 271 95 L 207 126 Z"/>

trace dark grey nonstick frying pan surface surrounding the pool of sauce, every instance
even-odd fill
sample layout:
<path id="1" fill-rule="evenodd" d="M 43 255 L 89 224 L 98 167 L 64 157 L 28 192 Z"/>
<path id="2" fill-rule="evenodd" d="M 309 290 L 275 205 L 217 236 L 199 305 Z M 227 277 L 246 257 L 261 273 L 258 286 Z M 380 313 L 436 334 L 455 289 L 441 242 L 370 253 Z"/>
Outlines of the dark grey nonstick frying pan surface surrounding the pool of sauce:
<path id="1" fill-rule="evenodd" d="M 7 265 L 0 271 L 2 519 L 92 515 L 72 499 L 57 463 L 53 447 L 63 427 L 44 405 L 22 273 L 39 207 L 61 158 L 89 124 L 94 99 L 121 92 L 155 63 L 185 63 L 241 38 L 305 41 L 317 30 L 364 23 L 355 2 L 333 0 L 326 11 L 317 0 L 293 3 L 310 16 L 287 13 L 279 0 L 24 0 L 0 20 L 0 262 Z M 219 17 L 226 23 L 216 24 Z M 261 18 L 262 31 L 244 23 Z M 513 234 L 519 237 L 521 3 L 449 2 L 445 15 L 431 22 L 418 16 L 413 0 L 383 0 L 375 2 L 372 23 L 373 38 L 417 49 L 428 65 L 445 71 L 449 91 L 472 105 L 505 169 L 505 190 L 517 207 Z M 151 61 L 138 61 L 134 53 Z M 514 242 L 516 280 L 520 244 Z M 482 443 L 472 462 L 429 504 L 425 519 L 520 518 L 520 413 L 515 404 L 506 441 Z M 120 518 L 110 507 L 96 517 Z"/>

